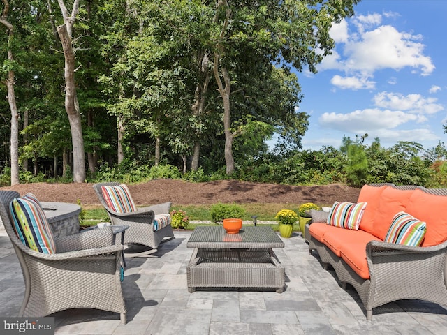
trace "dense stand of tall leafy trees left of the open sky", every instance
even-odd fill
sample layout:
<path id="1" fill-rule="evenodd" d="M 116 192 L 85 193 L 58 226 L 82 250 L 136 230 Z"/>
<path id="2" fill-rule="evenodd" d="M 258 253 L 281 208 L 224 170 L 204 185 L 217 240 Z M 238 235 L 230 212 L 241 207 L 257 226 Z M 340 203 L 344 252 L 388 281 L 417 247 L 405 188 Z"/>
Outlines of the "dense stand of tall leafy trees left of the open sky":
<path id="1" fill-rule="evenodd" d="M 2 178 L 230 176 L 274 134 L 300 149 L 309 116 L 292 70 L 316 71 L 357 2 L 2 0 Z"/>

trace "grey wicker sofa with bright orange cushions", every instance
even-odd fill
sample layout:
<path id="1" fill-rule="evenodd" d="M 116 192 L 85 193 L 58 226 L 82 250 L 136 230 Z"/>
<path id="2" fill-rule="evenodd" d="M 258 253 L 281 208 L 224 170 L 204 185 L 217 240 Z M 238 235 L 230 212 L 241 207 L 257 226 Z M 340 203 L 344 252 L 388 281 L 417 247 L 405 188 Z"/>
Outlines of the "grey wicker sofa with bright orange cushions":
<path id="1" fill-rule="evenodd" d="M 400 299 L 447 306 L 447 189 L 365 185 L 360 202 L 367 205 L 358 230 L 308 225 L 309 253 L 317 251 L 323 266 L 335 269 L 342 287 L 349 283 L 356 289 L 367 320 L 373 308 Z M 425 222 L 420 246 L 384 242 L 401 211 Z"/>

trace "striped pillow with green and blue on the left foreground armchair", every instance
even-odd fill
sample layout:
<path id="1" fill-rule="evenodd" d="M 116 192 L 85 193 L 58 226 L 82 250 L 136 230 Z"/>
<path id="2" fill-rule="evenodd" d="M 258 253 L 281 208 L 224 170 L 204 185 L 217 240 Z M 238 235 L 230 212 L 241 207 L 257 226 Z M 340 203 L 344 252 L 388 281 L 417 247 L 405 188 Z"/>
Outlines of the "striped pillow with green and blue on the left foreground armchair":
<path id="1" fill-rule="evenodd" d="M 10 204 L 15 234 L 22 243 L 39 253 L 56 253 L 50 224 L 41 203 L 31 193 Z"/>

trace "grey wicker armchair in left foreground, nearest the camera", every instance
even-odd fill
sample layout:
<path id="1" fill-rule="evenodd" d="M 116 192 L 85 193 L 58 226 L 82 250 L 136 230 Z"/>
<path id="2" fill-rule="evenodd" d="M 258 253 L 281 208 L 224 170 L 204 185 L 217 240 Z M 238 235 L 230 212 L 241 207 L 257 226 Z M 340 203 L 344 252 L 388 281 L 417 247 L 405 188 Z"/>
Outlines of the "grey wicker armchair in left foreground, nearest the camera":
<path id="1" fill-rule="evenodd" d="M 0 217 L 22 267 L 25 293 L 20 317 L 41 317 L 70 308 L 120 313 L 126 323 L 120 271 L 122 244 L 112 230 L 96 229 L 55 239 L 56 253 L 24 246 L 15 234 L 10 203 L 15 191 L 0 191 Z"/>

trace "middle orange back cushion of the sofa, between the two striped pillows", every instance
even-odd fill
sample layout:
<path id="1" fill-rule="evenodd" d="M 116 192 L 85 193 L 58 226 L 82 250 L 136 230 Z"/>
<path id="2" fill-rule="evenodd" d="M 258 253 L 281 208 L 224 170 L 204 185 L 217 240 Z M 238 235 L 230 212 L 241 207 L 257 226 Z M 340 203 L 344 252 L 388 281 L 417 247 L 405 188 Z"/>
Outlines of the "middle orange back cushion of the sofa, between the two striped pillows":
<path id="1" fill-rule="evenodd" d="M 373 230 L 371 232 L 374 236 L 379 237 L 382 241 L 385 239 L 395 214 L 400 211 L 408 213 L 406 207 L 415 191 L 397 190 L 392 187 L 387 187 L 383 190 L 379 200 L 379 207 L 374 215 Z"/>

